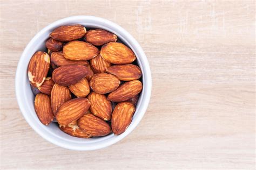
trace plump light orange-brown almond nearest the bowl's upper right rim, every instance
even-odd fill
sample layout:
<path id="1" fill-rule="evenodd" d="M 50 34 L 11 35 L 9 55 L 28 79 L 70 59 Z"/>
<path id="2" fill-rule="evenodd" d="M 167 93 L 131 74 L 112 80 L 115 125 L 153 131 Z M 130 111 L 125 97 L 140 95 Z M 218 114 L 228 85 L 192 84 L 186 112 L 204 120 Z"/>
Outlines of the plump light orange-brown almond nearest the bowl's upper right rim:
<path id="1" fill-rule="evenodd" d="M 109 42 L 103 45 L 100 55 L 104 60 L 116 65 L 132 63 L 136 60 L 133 51 L 120 42 Z"/>

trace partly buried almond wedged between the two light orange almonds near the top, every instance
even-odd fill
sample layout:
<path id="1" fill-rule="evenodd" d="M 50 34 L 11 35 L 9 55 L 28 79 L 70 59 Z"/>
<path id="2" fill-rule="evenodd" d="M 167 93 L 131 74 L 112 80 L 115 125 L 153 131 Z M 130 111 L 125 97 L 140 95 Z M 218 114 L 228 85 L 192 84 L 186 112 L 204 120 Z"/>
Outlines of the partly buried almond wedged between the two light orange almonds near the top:
<path id="1" fill-rule="evenodd" d="M 90 63 L 94 73 L 106 73 L 107 68 L 111 66 L 111 63 L 105 61 L 100 54 L 92 58 Z"/>

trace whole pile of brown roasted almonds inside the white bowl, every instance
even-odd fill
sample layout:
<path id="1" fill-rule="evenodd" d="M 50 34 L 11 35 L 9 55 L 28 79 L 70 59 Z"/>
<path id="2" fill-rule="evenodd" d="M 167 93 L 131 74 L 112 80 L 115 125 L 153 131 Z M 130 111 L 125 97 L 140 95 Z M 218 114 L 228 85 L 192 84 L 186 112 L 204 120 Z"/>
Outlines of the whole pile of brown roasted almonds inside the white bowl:
<path id="1" fill-rule="evenodd" d="M 111 32 L 83 25 L 60 26 L 46 41 L 48 53 L 33 54 L 28 77 L 39 120 L 71 136 L 123 133 L 142 91 L 136 56 Z"/>

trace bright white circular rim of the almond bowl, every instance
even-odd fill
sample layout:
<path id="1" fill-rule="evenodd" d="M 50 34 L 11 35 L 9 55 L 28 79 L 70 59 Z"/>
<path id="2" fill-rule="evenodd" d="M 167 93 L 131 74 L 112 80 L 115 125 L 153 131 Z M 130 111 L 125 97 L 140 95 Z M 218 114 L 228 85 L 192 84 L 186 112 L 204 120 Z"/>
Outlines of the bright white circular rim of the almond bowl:
<path id="1" fill-rule="evenodd" d="M 140 105 L 141 112 L 138 114 L 136 119 L 132 120 L 133 126 L 129 126 L 129 128 L 127 128 L 127 130 L 123 134 L 120 134 L 119 136 L 115 136 L 111 140 L 107 140 L 107 142 L 104 143 L 104 145 L 96 145 L 95 144 L 95 145 L 93 145 L 93 147 L 92 146 L 90 146 L 90 147 L 88 147 L 88 146 L 84 146 L 84 147 L 71 146 L 71 145 L 64 144 L 64 143 L 60 142 L 59 140 L 55 140 L 55 139 L 52 139 L 51 137 L 47 136 L 44 132 L 42 132 L 41 129 L 39 129 L 36 126 L 36 123 L 31 121 L 28 114 L 26 114 L 26 109 L 24 107 L 24 101 L 23 101 L 22 96 L 20 95 L 20 93 L 22 91 L 22 87 L 19 86 L 19 83 L 22 81 L 22 79 L 21 79 L 22 72 L 20 70 L 22 70 L 22 63 L 24 62 L 24 59 L 28 58 L 28 56 L 26 56 L 25 54 L 28 53 L 31 46 L 33 44 L 35 44 L 36 40 L 40 36 L 42 36 L 43 33 L 47 32 L 50 29 L 55 29 L 57 27 L 57 25 L 59 25 L 61 23 L 76 22 L 76 20 L 93 20 L 93 21 L 98 22 L 98 23 L 104 23 L 104 24 L 111 25 L 111 26 L 115 27 L 121 34 L 124 34 L 127 39 L 130 39 L 130 41 L 132 41 L 133 46 L 136 47 L 136 51 L 139 53 L 139 55 L 138 55 L 139 58 L 143 59 L 143 67 L 146 70 L 146 80 L 145 80 L 144 83 L 147 84 L 147 90 L 144 93 L 145 100 L 143 101 L 143 104 Z M 28 122 L 28 124 L 31 126 L 31 128 L 33 130 L 35 130 L 41 137 L 43 137 L 44 139 L 50 141 L 51 143 L 53 143 L 57 146 L 68 148 L 70 150 L 79 150 L 79 151 L 97 150 L 97 149 L 100 149 L 100 148 L 110 146 L 114 143 L 117 143 L 119 140 L 122 140 L 129 133 L 131 133 L 136 128 L 136 126 L 139 124 L 139 122 L 141 121 L 141 119 L 143 118 L 143 116 L 146 112 L 146 109 L 147 109 L 147 107 L 149 105 L 149 102 L 150 102 L 151 88 L 152 88 L 152 78 L 151 78 L 150 65 L 149 65 L 149 62 L 147 61 L 146 55 L 145 55 L 142 47 L 140 47 L 139 43 L 131 36 L 130 33 L 128 33 L 126 30 L 124 30 L 121 26 L 117 25 L 116 23 L 111 22 L 110 20 L 100 18 L 100 17 L 95 17 L 95 16 L 72 16 L 72 17 L 59 19 L 56 22 L 53 22 L 53 23 L 45 26 L 41 31 L 39 31 L 30 40 L 28 45 L 26 45 L 26 47 L 25 47 L 25 49 L 24 49 L 24 51 L 21 55 L 21 58 L 18 61 L 18 66 L 17 66 L 17 69 L 16 69 L 16 75 L 15 75 L 15 92 L 16 92 L 16 99 L 17 99 L 17 102 L 18 102 L 18 105 L 19 105 L 19 109 L 21 110 L 23 117 L 25 118 L 26 122 Z"/>

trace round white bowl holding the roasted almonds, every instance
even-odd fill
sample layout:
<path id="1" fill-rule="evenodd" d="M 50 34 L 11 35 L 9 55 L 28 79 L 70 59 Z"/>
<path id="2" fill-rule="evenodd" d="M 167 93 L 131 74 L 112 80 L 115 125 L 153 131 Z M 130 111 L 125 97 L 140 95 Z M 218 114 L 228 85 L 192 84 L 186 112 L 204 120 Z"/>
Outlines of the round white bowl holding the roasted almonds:
<path id="1" fill-rule="evenodd" d="M 36 51 L 45 51 L 45 41 L 49 38 L 49 33 L 56 29 L 56 27 L 73 24 L 82 24 L 85 27 L 95 29 L 99 28 L 113 32 L 118 36 L 118 39 L 122 40 L 124 44 L 129 46 L 137 56 L 138 65 L 142 69 L 143 73 L 143 90 L 140 94 L 139 101 L 136 106 L 136 112 L 134 113 L 131 124 L 126 131 L 119 136 L 114 136 L 112 133 L 105 137 L 90 139 L 72 137 L 62 132 L 56 123 L 51 123 L 48 126 L 43 125 L 36 115 L 34 108 L 35 96 L 31 91 L 27 74 L 27 67 L 30 58 Z M 26 122 L 29 123 L 33 130 L 53 144 L 71 150 L 80 151 L 97 150 L 99 148 L 110 146 L 131 133 L 131 131 L 139 124 L 146 112 L 147 105 L 149 105 L 151 86 L 152 82 L 149 62 L 147 61 L 146 55 L 138 42 L 119 25 L 114 24 L 109 20 L 93 16 L 74 16 L 60 19 L 38 32 L 24 49 L 18 63 L 15 77 L 16 97 L 19 108 L 21 109 Z"/>

